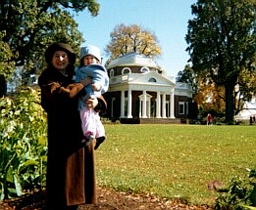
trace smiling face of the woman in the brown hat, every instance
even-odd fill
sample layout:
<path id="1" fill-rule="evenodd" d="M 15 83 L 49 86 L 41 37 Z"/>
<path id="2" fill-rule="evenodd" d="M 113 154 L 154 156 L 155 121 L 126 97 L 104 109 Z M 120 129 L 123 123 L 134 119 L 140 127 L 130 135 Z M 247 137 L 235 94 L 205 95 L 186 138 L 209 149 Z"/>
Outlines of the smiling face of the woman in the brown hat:
<path id="1" fill-rule="evenodd" d="M 52 64 L 55 68 L 59 70 L 64 70 L 70 63 L 68 54 L 64 51 L 56 51 L 53 54 Z"/>

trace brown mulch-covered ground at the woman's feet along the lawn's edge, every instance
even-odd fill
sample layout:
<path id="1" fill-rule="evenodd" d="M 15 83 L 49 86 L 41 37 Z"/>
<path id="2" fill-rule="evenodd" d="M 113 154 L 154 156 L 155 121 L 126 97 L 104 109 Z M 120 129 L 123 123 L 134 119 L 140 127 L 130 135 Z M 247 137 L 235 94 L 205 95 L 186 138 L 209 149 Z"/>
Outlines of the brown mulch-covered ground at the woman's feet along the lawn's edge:
<path id="1" fill-rule="evenodd" d="M 189 206 L 175 201 L 161 200 L 150 195 L 135 195 L 113 189 L 98 188 L 97 205 L 81 205 L 79 210 L 212 210 L 208 206 Z M 43 210 L 44 192 L 27 194 L 0 203 L 0 210 Z"/>

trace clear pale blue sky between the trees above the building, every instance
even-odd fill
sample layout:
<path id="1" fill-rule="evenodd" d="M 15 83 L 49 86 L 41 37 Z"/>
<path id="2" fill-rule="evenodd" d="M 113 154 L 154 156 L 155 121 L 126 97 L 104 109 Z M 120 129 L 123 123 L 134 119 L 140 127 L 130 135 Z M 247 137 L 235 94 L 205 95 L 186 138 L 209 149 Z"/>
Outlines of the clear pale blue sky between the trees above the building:
<path id="1" fill-rule="evenodd" d="M 103 63 L 107 61 L 104 49 L 110 42 L 115 26 L 138 24 L 155 33 L 162 48 L 157 63 L 168 76 L 176 77 L 189 59 L 184 40 L 187 21 L 192 19 L 191 5 L 196 0 L 98 0 L 100 12 L 91 17 L 88 11 L 75 15 L 78 30 L 86 42 L 101 49 Z"/>

